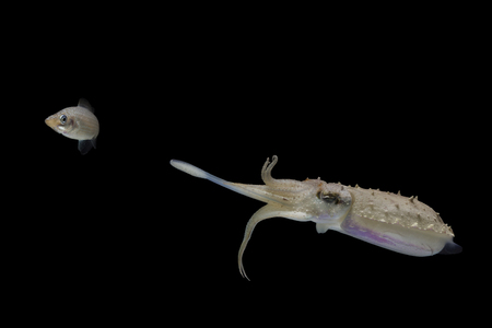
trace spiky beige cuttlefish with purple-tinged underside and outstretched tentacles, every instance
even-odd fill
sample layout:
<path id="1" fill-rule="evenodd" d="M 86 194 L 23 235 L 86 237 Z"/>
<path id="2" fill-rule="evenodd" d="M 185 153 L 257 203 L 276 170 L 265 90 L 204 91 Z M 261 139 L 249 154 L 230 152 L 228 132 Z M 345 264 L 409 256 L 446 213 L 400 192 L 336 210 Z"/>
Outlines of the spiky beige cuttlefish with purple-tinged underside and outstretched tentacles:
<path id="1" fill-rule="evenodd" d="M 237 262 L 246 279 L 243 254 L 253 230 L 258 222 L 276 216 L 313 221 L 318 233 L 335 230 L 410 256 L 461 251 L 461 246 L 453 242 L 452 229 L 418 197 L 328 184 L 319 178 L 274 179 L 271 171 L 277 162 L 277 156 L 272 163 L 267 159 L 261 169 L 265 185 L 244 185 L 225 181 L 186 162 L 171 161 L 177 169 L 267 203 L 249 219 L 239 247 Z"/>

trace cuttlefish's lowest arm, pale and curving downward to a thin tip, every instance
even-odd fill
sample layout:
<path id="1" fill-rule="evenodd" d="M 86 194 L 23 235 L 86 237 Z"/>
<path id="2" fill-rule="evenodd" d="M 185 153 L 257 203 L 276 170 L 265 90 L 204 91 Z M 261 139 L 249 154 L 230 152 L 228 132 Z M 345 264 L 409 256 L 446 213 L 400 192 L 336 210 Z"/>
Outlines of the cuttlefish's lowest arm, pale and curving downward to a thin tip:
<path id="1" fill-rule="evenodd" d="M 306 215 L 305 213 L 297 212 L 297 211 L 282 210 L 279 206 L 272 204 L 272 203 L 266 204 L 265 207 L 262 207 L 258 211 L 256 211 L 256 213 L 253 214 L 251 219 L 249 219 L 248 223 L 246 224 L 246 231 L 244 233 L 243 243 L 241 244 L 239 253 L 237 255 L 237 263 L 239 266 L 241 276 L 243 276 L 243 278 L 246 278 L 247 280 L 249 280 L 249 278 L 246 276 L 246 271 L 244 270 L 244 266 L 243 266 L 244 250 L 246 249 L 246 246 L 249 242 L 249 238 L 251 237 L 253 230 L 255 229 L 256 224 L 258 224 L 258 222 L 260 222 L 260 221 L 263 221 L 263 220 L 270 219 L 270 218 L 285 218 L 285 219 L 291 219 L 291 220 L 295 220 L 295 221 L 305 221 L 305 222 L 309 221 L 308 215 Z"/>

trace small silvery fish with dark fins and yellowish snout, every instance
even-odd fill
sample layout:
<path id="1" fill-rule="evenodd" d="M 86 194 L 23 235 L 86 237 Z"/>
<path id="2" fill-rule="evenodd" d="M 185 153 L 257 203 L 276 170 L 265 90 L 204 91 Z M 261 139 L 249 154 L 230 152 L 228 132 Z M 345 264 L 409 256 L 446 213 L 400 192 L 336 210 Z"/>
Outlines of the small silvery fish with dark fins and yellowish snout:
<path id="1" fill-rule="evenodd" d="M 67 107 L 45 119 L 48 127 L 67 138 L 79 140 L 79 151 L 85 155 L 93 147 L 99 133 L 99 122 L 94 108 L 84 98 L 77 107 Z"/>

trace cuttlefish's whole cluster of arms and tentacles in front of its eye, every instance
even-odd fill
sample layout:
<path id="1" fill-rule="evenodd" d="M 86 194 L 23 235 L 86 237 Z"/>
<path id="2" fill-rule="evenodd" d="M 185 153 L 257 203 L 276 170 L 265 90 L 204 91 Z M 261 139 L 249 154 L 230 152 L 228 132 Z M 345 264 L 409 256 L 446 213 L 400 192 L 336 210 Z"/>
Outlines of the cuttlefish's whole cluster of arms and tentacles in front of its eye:
<path id="1" fill-rule="evenodd" d="M 312 221 L 311 214 L 297 209 L 297 207 L 294 204 L 298 203 L 300 199 L 303 199 L 305 196 L 307 196 L 313 189 L 313 186 L 311 184 L 306 185 L 304 183 L 292 179 L 273 179 L 271 177 L 271 169 L 277 164 L 277 156 L 273 156 L 273 162 L 271 163 L 271 165 L 269 165 L 269 161 L 267 160 L 261 169 L 261 178 L 266 184 L 265 186 L 230 183 L 186 162 L 177 160 L 171 161 L 171 165 L 173 165 L 177 169 L 188 173 L 195 177 L 208 179 L 241 195 L 267 203 L 249 219 L 246 225 L 243 243 L 239 247 L 237 257 L 239 272 L 246 279 L 248 278 L 243 266 L 243 254 L 251 236 L 253 230 L 255 229 L 256 224 L 258 224 L 258 222 L 266 219 L 279 216 L 295 221 Z"/>

